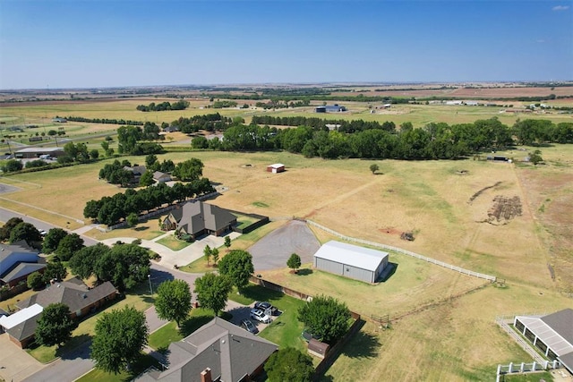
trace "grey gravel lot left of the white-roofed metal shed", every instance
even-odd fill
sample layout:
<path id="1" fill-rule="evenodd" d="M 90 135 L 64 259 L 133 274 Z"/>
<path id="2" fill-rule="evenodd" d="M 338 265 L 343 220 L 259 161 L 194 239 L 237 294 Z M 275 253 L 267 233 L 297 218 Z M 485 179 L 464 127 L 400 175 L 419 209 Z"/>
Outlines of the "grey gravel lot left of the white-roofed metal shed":
<path id="1" fill-rule="evenodd" d="M 301 262 L 312 263 L 312 255 L 321 248 L 321 243 L 306 223 L 293 220 L 269 233 L 248 250 L 252 254 L 252 265 L 258 270 L 286 267 L 286 260 L 296 253 Z"/>

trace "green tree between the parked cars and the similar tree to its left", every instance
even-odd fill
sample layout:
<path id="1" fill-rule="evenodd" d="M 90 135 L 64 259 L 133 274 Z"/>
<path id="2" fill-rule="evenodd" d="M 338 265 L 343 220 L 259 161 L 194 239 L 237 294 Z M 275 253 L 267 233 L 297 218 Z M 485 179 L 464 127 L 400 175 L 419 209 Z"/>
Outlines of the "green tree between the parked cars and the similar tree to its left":
<path id="1" fill-rule="evenodd" d="M 227 305 L 228 294 L 233 289 L 233 284 L 227 276 L 218 276 L 207 273 L 195 280 L 195 293 L 197 301 L 203 308 L 211 309 L 218 316 L 218 312 Z"/>

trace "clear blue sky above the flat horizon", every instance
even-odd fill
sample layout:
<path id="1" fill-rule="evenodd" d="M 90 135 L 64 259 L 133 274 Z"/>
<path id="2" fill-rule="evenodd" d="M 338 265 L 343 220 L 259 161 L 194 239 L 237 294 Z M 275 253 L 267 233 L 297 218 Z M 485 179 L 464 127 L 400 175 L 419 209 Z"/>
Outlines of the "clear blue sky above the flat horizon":
<path id="1" fill-rule="evenodd" d="M 571 0 L 0 0 L 0 89 L 551 80 Z"/>

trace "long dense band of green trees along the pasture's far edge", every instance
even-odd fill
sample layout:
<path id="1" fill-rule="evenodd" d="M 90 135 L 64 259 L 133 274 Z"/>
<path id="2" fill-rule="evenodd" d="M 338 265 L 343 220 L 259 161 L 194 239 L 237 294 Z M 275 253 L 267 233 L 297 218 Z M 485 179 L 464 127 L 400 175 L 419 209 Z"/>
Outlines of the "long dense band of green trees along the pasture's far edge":
<path id="1" fill-rule="evenodd" d="M 270 122 L 270 120 L 269 120 Z M 273 124 L 279 124 L 274 120 Z M 296 128 L 277 129 L 268 125 L 238 124 L 227 128 L 218 148 L 223 150 L 285 149 L 305 157 L 358 157 L 392 159 L 456 159 L 515 144 L 573 143 L 573 123 L 523 120 L 509 127 L 497 118 L 474 123 L 428 123 L 414 129 L 403 123 L 349 122 L 346 131 L 329 130 L 314 119 Z M 329 121 L 332 122 L 332 121 Z M 342 129 L 343 123 L 338 123 Z M 312 126 L 314 125 L 314 126 Z M 211 147 L 215 147 L 212 145 Z"/>

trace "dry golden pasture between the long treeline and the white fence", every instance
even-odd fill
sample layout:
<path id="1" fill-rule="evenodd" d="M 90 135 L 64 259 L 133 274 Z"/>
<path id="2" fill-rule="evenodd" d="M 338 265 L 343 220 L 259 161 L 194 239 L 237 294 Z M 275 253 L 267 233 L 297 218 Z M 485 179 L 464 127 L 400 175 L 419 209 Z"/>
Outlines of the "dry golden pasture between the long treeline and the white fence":
<path id="1" fill-rule="evenodd" d="M 544 150 L 548 157 L 551 151 Z M 270 217 L 306 217 L 348 236 L 413 250 L 478 272 L 508 280 L 526 277 L 545 286 L 552 283 L 545 265 L 548 251 L 526 208 L 524 186 L 518 182 L 521 167 L 475 160 L 329 161 L 285 152 L 185 152 L 158 159 L 167 157 L 175 163 L 200 158 L 204 176 L 228 188 L 212 201 L 224 208 Z M 143 160 L 127 158 L 132 163 Z M 286 164 L 285 173 L 265 171 L 277 162 Z M 379 164 L 381 174 L 372 175 L 372 163 Z M 20 210 L 30 205 L 30 215 L 41 208 L 83 219 L 88 200 L 124 191 L 98 180 L 104 164 L 7 177 L 9 184 L 27 183 L 19 183 L 24 185 L 21 191 L 2 195 L 0 206 Z M 521 216 L 505 225 L 485 222 L 496 196 L 521 200 Z M 414 233 L 415 241 L 401 240 L 403 232 Z"/>

